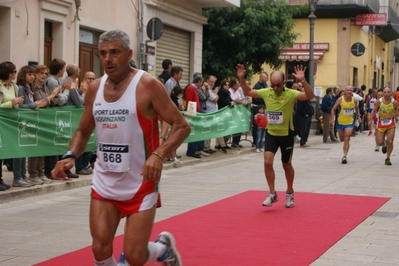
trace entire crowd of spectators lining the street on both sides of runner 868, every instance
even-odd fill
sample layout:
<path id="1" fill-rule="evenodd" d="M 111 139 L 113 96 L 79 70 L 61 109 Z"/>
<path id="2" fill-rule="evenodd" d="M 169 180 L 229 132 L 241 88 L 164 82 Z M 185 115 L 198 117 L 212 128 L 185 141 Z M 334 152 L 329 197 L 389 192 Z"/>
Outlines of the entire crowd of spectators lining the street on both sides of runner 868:
<path id="1" fill-rule="evenodd" d="M 136 67 L 131 61 L 131 67 Z M 214 75 L 202 75 L 194 73 L 192 82 L 185 87 L 180 85 L 184 69 L 173 65 L 172 60 L 165 59 L 162 62 L 163 72 L 158 76 L 158 80 L 164 84 L 165 89 L 170 95 L 170 100 L 180 111 L 187 111 L 189 102 L 194 106 L 197 113 L 212 113 L 218 109 L 227 107 L 234 108 L 235 105 L 251 107 L 251 135 L 252 147 L 256 152 L 263 152 L 265 145 L 265 134 L 268 125 L 268 109 L 262 98 L 247 97 L 239 80 L 233 78 L 222 78 L 218 82 L 218 77 Z M 66 74 L 65 74 L 66 72 Z M 84 73 L 83 80 L 79 81 L 80 68 L 76 64 L 66 64 L 62 59 L 54 58 L 49 66 L 38 65 L 22 66 L 17 70 L 12 62 L 0 63 L 0 108 L 52 108 L 54 106 L 76 106 L 83 107 L 85 93 L 89 84 L 95 80 L 95 74 L 91 71 Z M 268 73 L 262 72 L 259 81 L 252 87 L 253 90 L 268 88 Z M 249 81 L 246 81 L 247 85 Z M 288 76 L 285 81 L 287 89 L 303 92 L 303 85 L 293 76 Z M 356 101 L 354 112 L 353 129 L 351 136 L 368 130 L 369 135 L 375 135 L 378 115 L 372 115 L 374 105 L 383 95 L 383 88 L 369 89 L 365 95 L 366 86 L 360 88 L 352 87 L 350 97 Z M 312 119 L 320 121 L 318 130 L 323 137 L 323 143 L 335 143 L 349 141 L 348 138 L 340 138 L 337 133 L 337 116 L 339 110 L 334 109 L 337 100 L 345 95 L 345 90 L 339 87 L 329 87 L 322 98 L 320 110 L 316 110 L 310 100 L 297 101 L 292 110 L 294 121 L 294 139 L 302 148 L 308 148 L 307 143 Z M 399 88 L 392 97 L 399 100 Z M 334 110 L 334 112 L 332 112 Z M 320 111 L 320 116 L 319 116 Z M 185 113 L 185 112 L 183 112 Z M 185 114 L 188 115 L 188 114 Z M 373 119 L 373 121 L 371 121 Z M 331 123 L 333 121 L 333 124 Z M 371 123 L 370 123 L 371 121 Z M 160 144 L 168 137 L 169 125 L 160 121 L 161 133 Z M 321 133 L 322 132 L 322 133 Z M 215 152 L 228 153 L 232 148 L 241 149 L 240 144 L 242 132 L 224 137 L 217 137 L 213 140 L 203 140 L 190 142 L 187 145 L 186 156 L 200 159 L 202 156 L 211 156 Z M 375 151 L 379 151 L 377 145 Z M 13 187 L 31 187 L 35 185 L 48 184 L 60 178 L 52 177 L 51 170 L 54 168 L 61 156 L 43 156 L 29 158 L 9 158 L 1 160 L 0 163 L 6 165 L 9 171 L 13 172 L 12 184 L 6 184 L 2 179 L 0 168 L 0 191 L 5 191 Z M 75 162 L 75 173 L 66 172 L 64 181 L 71 178 L 78 178 L 79 175 L 90 175 L 95 161 L 95 154 L 85 152 Z M 166 162 L 180 164 L 181 155 L 176 151 L 169 154 Z M 27 165 L 27 167 L 26 167 Z M 26 169 L 28 168 L 28 169 Z"/>

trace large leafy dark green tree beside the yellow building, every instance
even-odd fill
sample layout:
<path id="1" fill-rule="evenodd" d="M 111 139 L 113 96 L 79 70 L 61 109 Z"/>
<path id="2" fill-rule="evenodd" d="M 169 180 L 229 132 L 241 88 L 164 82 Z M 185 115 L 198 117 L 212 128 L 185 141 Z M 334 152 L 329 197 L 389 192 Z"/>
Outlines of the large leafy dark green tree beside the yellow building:
<path id="1" fill-rule="evenodd" d="M 204 9 L 202 72 L 221 80 L 235 76 L 238 63 L 246 65 L 248 77 L 265 63 L 278 68 L 280 49 L 291 47 L 298 36 L 292 17 L 307 9 L 284 0 L 241 0 L 239 8 Z"/>

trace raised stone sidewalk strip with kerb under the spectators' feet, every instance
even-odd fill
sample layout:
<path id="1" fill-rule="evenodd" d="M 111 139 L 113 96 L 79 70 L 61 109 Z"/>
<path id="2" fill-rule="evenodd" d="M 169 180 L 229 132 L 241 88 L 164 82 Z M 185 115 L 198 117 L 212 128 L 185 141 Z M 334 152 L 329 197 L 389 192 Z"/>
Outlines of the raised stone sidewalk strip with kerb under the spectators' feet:
<path id="1" fill-rule="evenodd" d="M 186 156 L 186 150 L 187 150 L 187 143 L 183 143 L 179 149 L 177 150 L 177 154 L 181 156 L 181 164 L 175 164 L 175 163 L 169 163 L 165 162 L 163 164 L 163 169 L 168 170 L 172 168 L 178 168 L 178 167 L 185 167 L 189 165 L 194 165 L 198 163 L 203 163 L 203 162 L 209 162 L 209 161 L 214 161 L 214 160 L 219 160 L 231 156 L 237 156 L 243 153 L 249 153 L 249 152 L 254 152 L 254 148 L 251 147 L 252 145 L 252 136 L 246 137 L 243 135 L 241 137 L 241 145 L 243 145 L 243 148 L 237 149 L 237 148 L 232 148 L 231 150 L 227 151 L 227 154 L 224 154 L 220 151 L 215 152 L 212 155 L 209 155 L 208 157 L 202 156 L 201 159 L 196 159 L 193 157 L 188 157 Z M 214 140 L 212 140 L 212 145 L 211 148 L 214 149 Z M 3 165 L 3 180 L 6 184 L 10 185 L 12 184 L 13 181 L 13 173 L 8 171 L 7 168 Z M 28 167 L 26 167 L 28 169 Z M 72 172 L 75 173 L 75 170 L 72 169 Z M 28 173 L 27 173 L 28 175 Z M 28 175 L 29 176 L 29 175 Z M 0 191 L 0 204 L 3 204 L 8 201 L 12 200 L 18 200 L 22 199 L 25 197 L 30 197 L 30 196 L 38 196 L 38 195 L 43 195 L 46 193 L 52 193 L 52 192 L 58 192 L 58 191 L 63 191 L 63 190 L 68 190 L 68 189 L 74 189 L 74 188 L 79 188 L 83 186 L 89 186 L 91 184 L 91 179 L 92 175 L 80 175 L 79 178 L 72 179 L 70 182 L 65 182 L 62 180 L 56 180 L 53 181 L 51 184 L 43 184 L 43 185 L 36 185 L 33 187 L 11 187 L 10 189 L 6 191 Z"/>

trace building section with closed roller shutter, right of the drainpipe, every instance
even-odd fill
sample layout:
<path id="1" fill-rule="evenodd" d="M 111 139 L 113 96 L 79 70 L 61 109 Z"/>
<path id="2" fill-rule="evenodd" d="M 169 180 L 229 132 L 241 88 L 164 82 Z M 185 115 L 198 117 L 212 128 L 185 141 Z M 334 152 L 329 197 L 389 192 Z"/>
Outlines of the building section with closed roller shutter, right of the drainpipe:
<path id="1" fill-rule="evenodd" d="M 143 41 L 155 47 L 155 56 L 142 55 L 140 62 L 158 76 L 162 71 L 162 61 L 172 59 L 176 66 L 183 68 L 182 86 L 192 81 L 193 73 L 202 70 L 202 28 L 207 18 L 202 16 L 203 7 L 237 7 L 239 0 L 148 0 L 143 5 L 143 21 L 148 25 L 153 18 L 162 21 L 161 38 L 155 42 L 150 40 L 143 30 Z"/>

